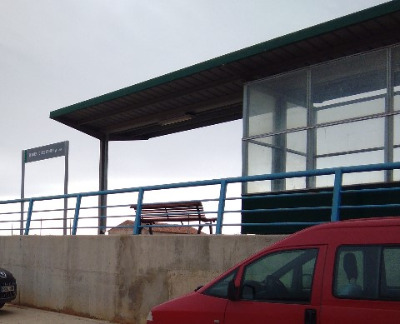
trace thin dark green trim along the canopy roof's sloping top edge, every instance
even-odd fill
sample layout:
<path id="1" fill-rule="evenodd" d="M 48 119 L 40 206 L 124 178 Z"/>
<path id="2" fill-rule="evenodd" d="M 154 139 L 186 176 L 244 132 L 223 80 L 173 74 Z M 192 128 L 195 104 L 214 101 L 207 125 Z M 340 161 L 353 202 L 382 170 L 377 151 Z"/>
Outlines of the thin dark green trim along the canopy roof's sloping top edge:
<path id="1" fill-rule="evenodd" d="M 120 90 L 116 90 L 89 100 L 85 100 L 71 106 L 67 106 L 65 108 L 60 108 L 55 111 L 50 112 L 50 118 L 57 119 L 57 117 L 66 115 L 68 113 L 85 109 L 100 103 L 108 102 L 126 95 L 134 94 L 139 91 L 143 91 L 155 86 L 162 85 L 164 83 L 178 80 L 195 73 L 199 73 L 202 71 L 206 71 L 224 64 L 229 64 L 235 61 L 239 61 L 241 59 L 245 59 L 247 57 L 251 57 L 262 52 L 270 51 L 273 49 L 280 48 L 285 45 L 290 45 L 292 43 L 296 43 L 308 38 L 312 38 L 315 36 L 319 36 L 328 32 L 335 31 L 340 28 L 345 28 L 357 23 L 361 23 L 363 21 L 371 20 L 374 18 L 378 18 L 380 16 L 384 16 L 390 14 L 392 12 L 396 12 L 400 10 L 400 0 L 393 0 L 390 2 L 383 3 L 381 5 L 364 9 L 359 12 L 355 12 L 343 17 L 339 17 L 328 22 L 324 22 L 312 27 L 308 27 L 302 29 L 297 32 L 293 32 L 281 37 L 274 38 L 272 40 L 259 43 L 250 47 L 243 48 L 241 50 L 231 52 L 201 63 L 197 63 L 190 67 L 186 67 L 148 81 L 144 81 L 141 83 L 137 83 L 135 85 L 122 88 Z"/>

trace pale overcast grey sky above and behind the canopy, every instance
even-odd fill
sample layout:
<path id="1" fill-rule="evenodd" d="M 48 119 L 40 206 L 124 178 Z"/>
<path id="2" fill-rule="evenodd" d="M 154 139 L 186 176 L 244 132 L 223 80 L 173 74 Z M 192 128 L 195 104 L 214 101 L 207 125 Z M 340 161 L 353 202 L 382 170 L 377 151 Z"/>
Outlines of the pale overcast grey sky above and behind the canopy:
<path id="1" fill-rule="evenodd" d="M 67 140 L 69 191 L 98 189 L 98 140 L 51 111 L 383 2 L 0 0 L 0 200 L 20 195 L 22 150 Z M 240 176 L 241 137 L 236 121 L 112 142 L 109 188 Z M 25 196 L 62 193 L 63 168 L 27 164 Z"/>

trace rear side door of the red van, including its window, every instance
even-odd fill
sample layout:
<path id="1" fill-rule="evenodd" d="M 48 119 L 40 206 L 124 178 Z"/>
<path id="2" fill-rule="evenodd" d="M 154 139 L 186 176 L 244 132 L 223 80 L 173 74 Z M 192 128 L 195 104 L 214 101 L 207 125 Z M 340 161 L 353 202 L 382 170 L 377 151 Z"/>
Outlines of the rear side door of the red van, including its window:
<path id="1" fill-rule="evenodd" d="M 400 245 L 341 245 L 332 252 L 322 323 L 400 323 Z"/>

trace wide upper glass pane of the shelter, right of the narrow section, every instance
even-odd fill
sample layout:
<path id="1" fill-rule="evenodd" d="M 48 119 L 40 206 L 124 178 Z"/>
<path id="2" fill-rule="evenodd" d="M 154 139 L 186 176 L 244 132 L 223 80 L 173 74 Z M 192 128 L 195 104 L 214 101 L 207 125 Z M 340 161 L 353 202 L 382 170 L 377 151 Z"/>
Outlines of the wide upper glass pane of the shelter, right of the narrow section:
<path id="1" fill-rule="evenodd" d="M 312 68 L 317 123 L 385 111 L 386 51 L 354 56 Z"/>

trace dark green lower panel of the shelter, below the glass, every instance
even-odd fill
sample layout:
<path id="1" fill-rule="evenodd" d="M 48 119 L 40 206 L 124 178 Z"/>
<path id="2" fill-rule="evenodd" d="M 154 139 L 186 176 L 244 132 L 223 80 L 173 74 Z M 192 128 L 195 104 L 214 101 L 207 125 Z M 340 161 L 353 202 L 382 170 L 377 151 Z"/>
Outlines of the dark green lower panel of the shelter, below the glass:
<path id="1" fill-rule="evenodd" d="M 345 187 L 341 194 L 340 219 L 398 216 L 400 208 L 390 205 L 400 204 L 400 192 L 387 191 L 387 188 L 400 189 L 400 183 Z M 247 195 L 242 197 L 242 223 L 327 222 L 331 219 L 331 206 L 332 188 Z M 291 234 L 305 227 L 243 225 L 242 234 Z"/>

